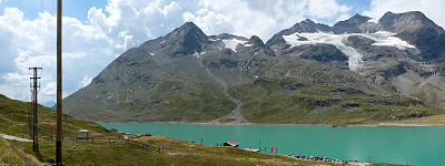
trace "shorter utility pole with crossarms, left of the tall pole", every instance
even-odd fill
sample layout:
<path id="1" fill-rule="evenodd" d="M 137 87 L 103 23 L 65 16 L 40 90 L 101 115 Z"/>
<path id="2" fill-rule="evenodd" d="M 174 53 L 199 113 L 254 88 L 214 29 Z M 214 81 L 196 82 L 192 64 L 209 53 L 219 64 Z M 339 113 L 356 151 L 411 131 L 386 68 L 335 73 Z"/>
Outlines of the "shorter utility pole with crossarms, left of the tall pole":
<path id="1" fill-rule="evenodd" d="M 33 76 L 30 77 L 32 80 L 31 86 L 31 92 L 32 92 L 32 105 L 31 105 L 31 112 L 32 112 L 32 151 L 33 152 L 39 152 L 39 128 L 38 128 L 38 118 L 37 118 L 37 93 L 40 87 L 38 84 L 37 80 L 41 79 L 37 76 L 37 71 L 42 70 L 42 68 L 29 68 L 29 70 L 33 71 Z"/>

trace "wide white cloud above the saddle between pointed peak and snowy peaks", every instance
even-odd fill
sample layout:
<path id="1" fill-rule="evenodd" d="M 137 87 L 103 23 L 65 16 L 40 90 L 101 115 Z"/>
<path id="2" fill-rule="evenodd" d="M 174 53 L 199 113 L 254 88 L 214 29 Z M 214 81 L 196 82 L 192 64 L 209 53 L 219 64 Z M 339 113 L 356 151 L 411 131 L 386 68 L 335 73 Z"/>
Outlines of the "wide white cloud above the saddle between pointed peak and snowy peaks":
<path id="1" fill-rule="evenodd" d="M 258 35 L 267 41 L 306 18 L 334 24 L 338 18 L 348 18 L 350 9 L 336 0 L 200 0 L 198 9 L 185 12 L 182 19 L 207 34 Z"/>

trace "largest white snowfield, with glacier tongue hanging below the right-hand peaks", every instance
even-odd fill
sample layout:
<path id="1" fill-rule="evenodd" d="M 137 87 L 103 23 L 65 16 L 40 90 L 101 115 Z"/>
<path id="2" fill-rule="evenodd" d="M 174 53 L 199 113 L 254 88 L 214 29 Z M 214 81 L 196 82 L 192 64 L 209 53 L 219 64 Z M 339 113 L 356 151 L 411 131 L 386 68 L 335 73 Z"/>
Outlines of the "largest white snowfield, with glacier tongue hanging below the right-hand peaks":
<path id="1" fill-rule="evenodd" d="M 283 35 L 285 41 L 293 46 L 298 46 L 301 44 L 333 44 L 343 53 L 348 56 L 349 70 L 359 72 L 363 66 L 363 55 L 359 54 L 354 48 L 347 46 L 343 43 L 343 40 L 346 40 L 349 35 L 362 35 L 368 39 L 376 41 L 373 45 L 387 45 L 387 46 L 396 46 L 400 50 L 415 50 L 418 52 L 416 46 L 408 44 L 399 38 L 393 37 L 395 33 L 379 31 L 376 33 L 350 33 L 350 34 L 334 34 L 333 32 L 318 32 L 318 33 L 294 33 L 290 35 Z M 306 41 L 300 41 L 306 38 Z"/>

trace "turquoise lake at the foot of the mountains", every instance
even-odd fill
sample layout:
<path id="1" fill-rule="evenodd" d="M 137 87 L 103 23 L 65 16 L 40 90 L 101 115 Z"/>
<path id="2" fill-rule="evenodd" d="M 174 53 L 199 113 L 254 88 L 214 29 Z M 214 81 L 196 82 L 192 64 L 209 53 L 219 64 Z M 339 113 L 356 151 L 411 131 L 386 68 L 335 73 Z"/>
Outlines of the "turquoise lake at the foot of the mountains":
<path id="1" fill-rule="evenodd" d="M 235 139 L 240 148 L 284 155 L 333 157 L 408 165 L 445 164 L 445 126 L 329 127 L 291 125 L 198 125 L 177 123 L 99 123 L 123 133 L 149 133 L 206 145 Z M 259 145 L 260 144 L 260 145 Z"/>

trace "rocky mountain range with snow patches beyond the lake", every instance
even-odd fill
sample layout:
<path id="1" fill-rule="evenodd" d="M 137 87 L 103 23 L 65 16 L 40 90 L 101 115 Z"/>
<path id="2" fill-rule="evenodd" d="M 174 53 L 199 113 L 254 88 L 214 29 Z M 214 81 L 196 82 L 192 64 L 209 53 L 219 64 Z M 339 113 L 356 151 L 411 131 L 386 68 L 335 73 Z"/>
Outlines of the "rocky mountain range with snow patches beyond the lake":
<path id="1" fill-rule="evenodd" d="M 100 122 L 370 124 L 445 112 L 445 31 L 422 12 L 309 19 L 266 43 L 186 22 L 63 98 Z"/>

